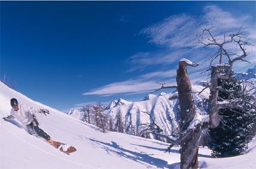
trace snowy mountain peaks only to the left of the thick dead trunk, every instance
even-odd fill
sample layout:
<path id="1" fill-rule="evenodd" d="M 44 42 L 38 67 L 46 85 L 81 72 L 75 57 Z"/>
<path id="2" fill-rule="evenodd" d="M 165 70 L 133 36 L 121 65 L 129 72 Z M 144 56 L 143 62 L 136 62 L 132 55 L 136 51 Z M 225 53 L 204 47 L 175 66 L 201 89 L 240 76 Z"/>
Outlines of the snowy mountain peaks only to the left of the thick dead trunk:
<path id="1" fill-rule="evenodd" d="M 173 134 L 178 128 L 178 105 L 177 100 L 169 100 L 171 95 L 166 93 L 161 93 L 161 96 L 149 94 L 145 97 L 146 100 L 128 102 L 128 105 L 117 104 L 115 100 L 105 110 L 105 113 L 108 117 L 113 118 L 113 126 L 117 126 L 117 124 L 123 126 L 125 134 L 157 139 L 154 134 L 144 131 L 145 124 L 153 123 L 147 112 L 150 112 L 154 122 L 163 129 L 164 134 Z M 118 120 L 119 117 L 122 117 L 122 122 Z"/>

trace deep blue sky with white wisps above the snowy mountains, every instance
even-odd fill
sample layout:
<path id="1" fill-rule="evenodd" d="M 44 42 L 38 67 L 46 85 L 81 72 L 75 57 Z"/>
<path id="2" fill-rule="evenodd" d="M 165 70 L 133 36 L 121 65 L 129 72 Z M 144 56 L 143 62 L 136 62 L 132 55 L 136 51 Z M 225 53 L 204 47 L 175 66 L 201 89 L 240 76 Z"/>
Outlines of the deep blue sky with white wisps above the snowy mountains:
<path id="1" fill-rule="evenodd" d="M 243 29 L 256 42 L 255 1 L 1 1 L 1 78 L 16 90 L 66 111 L 81 103 L 122 97 L 142 100 L 159 87 L 175 84 L 178 60 L 192 81 L 214 49 L 193 43 L 204 26 L 216 35 Z M 254 43 L 255 44 L 255 43 Z M 248 49 L 254 66 L 255 49 Z"/>

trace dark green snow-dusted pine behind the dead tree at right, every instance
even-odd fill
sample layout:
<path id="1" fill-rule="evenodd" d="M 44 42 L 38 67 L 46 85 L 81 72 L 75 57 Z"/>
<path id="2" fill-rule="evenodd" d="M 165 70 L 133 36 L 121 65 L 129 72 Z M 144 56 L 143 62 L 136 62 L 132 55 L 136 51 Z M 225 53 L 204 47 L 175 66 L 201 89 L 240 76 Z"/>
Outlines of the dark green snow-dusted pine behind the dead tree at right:
<path id="1" fill-rule="evenodd" d="M 239 109 L 220 109 L 221 123 L 217 128 L 210 129 L 209 148 L 214 157 L 240 155 L 246 150 L 252 125 L 255 122 L 255 109 L 251 105 L 252 97 L 246 93 L 241 82 L 231 73 L 228 79 L 219 79 L 219 101 L 240 100 Z"/>

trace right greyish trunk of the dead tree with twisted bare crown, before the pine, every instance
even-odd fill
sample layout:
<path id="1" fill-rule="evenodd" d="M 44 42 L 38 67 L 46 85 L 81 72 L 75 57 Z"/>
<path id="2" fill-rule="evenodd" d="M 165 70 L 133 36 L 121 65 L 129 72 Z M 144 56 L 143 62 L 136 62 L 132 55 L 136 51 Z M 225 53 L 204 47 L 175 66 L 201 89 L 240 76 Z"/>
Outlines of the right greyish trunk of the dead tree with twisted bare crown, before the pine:
<path id="1" fill-rule="evenodd" d="M 202 34 L 199 36 L 198 43 L 204 46 L 216 46 L 217 52 L 210 58 L 210 71 L 211 71 L 211 84 L 207 87 L 210 87 L 210 98 L 208 103 L 208 109 L 210 114 L 210 124 L 209 128 L 216 128 L 219 126 L 219 109 L 241 109 L 237 104 L 238 100 L 221 100 L 219 101 L 218 93 L 222 88 L 218 87 L 218 79 L 227 79 L 231 73 L 233 64 L 236 61 L 246 61 L 246 47 L 253 46 L 249 43 L 246 38 L 246 35 L 241 32 L 241 28 L 235 34 L 223 35 L 222 38 L 214 36 L 211 33 L 212 28 L 205 28 L 202 30 Z M 226 48 L 227 45 L 234 45 L 239 52 L 231 52 Z M 217 65 L 213 65 L 213 62 L 218 60 Z M 225 64 L 223 62 L 226 61 Z M 233 91 L 226 91 L 228 93 Z"/>

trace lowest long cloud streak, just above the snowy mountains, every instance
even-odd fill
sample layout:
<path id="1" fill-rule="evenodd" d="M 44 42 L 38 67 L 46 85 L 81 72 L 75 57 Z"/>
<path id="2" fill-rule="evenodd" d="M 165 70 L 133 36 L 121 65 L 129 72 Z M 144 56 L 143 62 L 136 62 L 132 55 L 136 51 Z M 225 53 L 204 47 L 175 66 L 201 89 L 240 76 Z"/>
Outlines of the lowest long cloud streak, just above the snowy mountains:
<path id="1" fill-rule="evenodd" d="M 204 69 L 204 67 L 199 67 L 199 69 L 194 70 L 192 69 L 191 73 L 189 74 L 190 78 L 193 79 L 192 82 L 207 79 L 207 74 L 200 75 L 202 69 Z M 149 93 L 150 91 L 160 87 L 157 82 L 168 82 L 166 85 L 176 85 L 176 69 L 163 72 L 152 72 L 141 75 L 139 78 L 139 80 L 115 82 L 112 84 L 104 85 L 84 93 L 83 95 L 95 94 L 104 96 L 120 93 L 125 95 Z"/>

